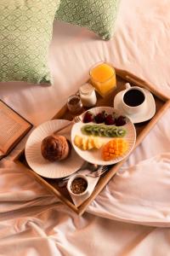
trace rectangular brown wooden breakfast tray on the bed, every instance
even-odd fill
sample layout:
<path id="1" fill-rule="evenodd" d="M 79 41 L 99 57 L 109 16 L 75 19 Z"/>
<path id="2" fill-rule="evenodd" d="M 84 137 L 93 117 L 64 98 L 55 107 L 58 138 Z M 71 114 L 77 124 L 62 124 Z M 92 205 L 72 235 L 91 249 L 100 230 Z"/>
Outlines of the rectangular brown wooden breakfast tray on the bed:
<path id="1" fill-rule="evenodd" d="M 120 90 L 125 89 L 125 84 L 127 82 L 131 83 L 132 86 L 140 86 L 144 87 L 148 90 L 150 90 L 155 98 L 156 101 L 156 114 L 155 116 L 150 119 L 149 121 L 139 123 L 135 125 L 136 131 L 137 131 L 137 140 L 135 143 L 135 148 L 139 146 L 139 144 L 143 141 L 144 137 L 149 133 L 149 131 L 153 128 L 154 125 L 156 125 L 156 122 L 161 118 L 161 116 L 166 112 L 167 108 L 170 108 L 170 99 L 167 98 L 167 96 L 164 96 L 161 94 L 161 92 L 157 91 L 154 88 L 154 85 L 148 84 L 142 79 L 139 79 L 132 73 L 128 73 L 127 71 L 123 71 L 116 68 L 116 81 L 117 81 L 117 87 L 114 92 L 112 92 L 110 95 L 106 96 L 105 98 L 102 98 L 101 96 L 98 96 L 98 102 L 96 106 L 111 106 L 113 107 L 113 98 L 116 95 L 117 92 Z M 67 110 L 66 105 L 59 110 L 58 113 L 54 116 L 53 119 L 69 119 L 71 120 L 73 116 L 69 111 Z M 26 158 L 24 154 L 24 149 L 16 156 L 14 161 L 18 163 L 19 165 L 25 166 L 24 170 L 28 172 L 32 177 L 34 177 L 38 183 L 42 184 L 46 189 L 48 189 L 49 192 L 53 193 L 54 195 L 57 195 L 61 201 L 63 201 L 68 207 L 71 207 L 71 209 L 75 212 L 77 212 L 79 215 L 81 215 L 83 212 L 86 211 L 88 205 L 94 201 L 94 198 L 99 194 L 99 192 L 105 188 L 105 185 L 110 181 L 111 177 L 113 177 L 116 172 L 119 170 L 119 168 L 122 166 L 122 164 L 127 160 L 124 159 L 121 162 L 117 163 L 114 166 L 111 166 L 111 170 L 109 172 L 106 172 L 106 174 L 99 178 L 99 182 L 97 183 L 93 194 L 88 198 L 87 201 L 84 201 L 80 207 L 76 207 L 73 202 L 71 201 L 71 197 L 69 193 L 67 192 L 67 189 L 63 188 L 60 189 L 57 186 L 57 182 L 59 179 L 49 179 L 39 176 L 36 172 L 33 172 L 31 168 L 26 163 Z"/>

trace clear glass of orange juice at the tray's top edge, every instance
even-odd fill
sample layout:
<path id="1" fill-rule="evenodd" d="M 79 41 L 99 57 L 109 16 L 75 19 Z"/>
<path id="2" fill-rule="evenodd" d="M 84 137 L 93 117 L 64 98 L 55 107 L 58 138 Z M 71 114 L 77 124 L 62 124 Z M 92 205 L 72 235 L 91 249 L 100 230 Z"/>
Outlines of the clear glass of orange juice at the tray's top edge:
<path id="1" fill-rule="evenodd" d="M 110 63 L 101 61 L 90 69 L 91 84 L 101 96 L 106 96 L 116 89 L 116 72 Z"/>

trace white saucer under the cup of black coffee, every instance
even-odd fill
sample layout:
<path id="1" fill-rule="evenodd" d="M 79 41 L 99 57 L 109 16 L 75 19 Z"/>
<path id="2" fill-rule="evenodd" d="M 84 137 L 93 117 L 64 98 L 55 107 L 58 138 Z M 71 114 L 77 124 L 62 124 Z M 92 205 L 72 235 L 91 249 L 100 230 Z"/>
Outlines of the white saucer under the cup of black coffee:
<path id="1" fill-rule="evenodd" d="M 152 96 L 149 90 L 146 90 L 146 89 L 143 89 L 143 90 L 146 94 L 146 106 L 148 107 L 144 108 L 139 113 L 129 114 L 129 113 L 126 113 L 125 110 L 122 108 L 121 98 L 122 98 L 123 90 L 117 93 L 114 98 L 114 102 L 113 102 L 114 108 L 120 110 L 123 114 L 127 115 L 127 117 L 129 117 L 129 119 L 132 120 L 133 124 L 147 121 L 151 119 L 156 113 L 156 103 L 155 103 L 154 97 Z"/>

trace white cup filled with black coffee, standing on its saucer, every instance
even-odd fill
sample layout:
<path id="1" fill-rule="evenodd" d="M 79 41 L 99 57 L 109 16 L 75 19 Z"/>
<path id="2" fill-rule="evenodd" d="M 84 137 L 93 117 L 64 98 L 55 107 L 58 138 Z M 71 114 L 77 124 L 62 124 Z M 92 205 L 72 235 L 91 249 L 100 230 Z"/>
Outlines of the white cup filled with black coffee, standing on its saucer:
<path id="1" fill-rule="evenodd" d="M 139 113 L 146 107 L 146 95 L 139 86 L 131 87 L 126 84 L 126 90 L 122 92 L 122 108 L 126 113 Z"/>

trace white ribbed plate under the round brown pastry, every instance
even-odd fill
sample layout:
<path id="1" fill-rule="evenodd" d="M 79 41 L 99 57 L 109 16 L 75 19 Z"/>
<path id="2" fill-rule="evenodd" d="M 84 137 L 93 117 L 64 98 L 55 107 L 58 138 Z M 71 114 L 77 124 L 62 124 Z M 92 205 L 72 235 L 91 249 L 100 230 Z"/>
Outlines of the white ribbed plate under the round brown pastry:
<path id="1" fill-rule="evenodd" d="M 26 142 L 26 161 L 31 169 L 42 177 L 65 177 L 76 172 L 77 169 L 82 166 L 83 160 L 77 155 L 73 147 L 71 148 L 70 156 L 65 160 L 50 162 L 42 157 L 42 139 L 51 135 L 54 131 L 67 123 L 67 120 L 61 119 L 45 122 L 32 131 Z M 62 133 L 62 135 L 65 135 L 65 137 L 71 141 L 70 134 L 71 127 L 68 128 L 65 133 L 64 131 Z"/>

